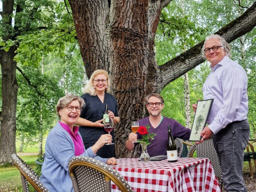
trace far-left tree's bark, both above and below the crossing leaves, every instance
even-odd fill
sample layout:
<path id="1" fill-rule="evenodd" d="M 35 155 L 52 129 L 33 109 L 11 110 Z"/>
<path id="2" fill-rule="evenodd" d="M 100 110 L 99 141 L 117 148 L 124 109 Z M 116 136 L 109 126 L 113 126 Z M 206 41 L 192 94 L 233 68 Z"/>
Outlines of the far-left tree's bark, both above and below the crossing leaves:
<path id="1" fill-rule="evenodd" d="M 16 4 L 16 13 L 22 12 L 22 1 Z M 2 40 L 15 40 L 18 36 L 18 27 L 14 22 L 12 28 L 12 14 L 14 12 L 14 0 L 3 1 L 2 28 L 4 34 Z M 16 66 L 14 61 L 15 51 L 18 45 L 11 46 L 6 52 L 0 46 L 0 64 L 2 70 L 2 116 L 0 134 L 0 164 L 12 163 L 12 154 L 16 153 L 16 104 L 18 95 L 18 83 L 16 80 Z"/>

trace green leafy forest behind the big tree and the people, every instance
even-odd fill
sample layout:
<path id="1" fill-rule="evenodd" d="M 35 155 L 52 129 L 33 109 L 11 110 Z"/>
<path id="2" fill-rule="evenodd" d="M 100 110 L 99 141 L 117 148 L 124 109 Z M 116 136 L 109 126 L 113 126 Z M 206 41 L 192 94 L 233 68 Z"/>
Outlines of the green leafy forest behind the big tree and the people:
<path id="1" fill-rule="evenodd" d="M 14 6 L 9 28 L 7 19 L 3 16 L 3 3 L 6 2 L 13 3 Z M 165 64 L 202 42 L 205 36 L 238 18 L 252 4 L 255 4 L 253 0 L 171 1 L 162 8 L 154 38 L 154 51 L 158 65 Z M 21 8 L 22 12 L 19 12 Z M 26 146 L 38 143 L 38 152 L 42 154 L 43 140 L 58 121 L 55 113 L 58 99 L 68 92 L 81 95 L 82 88 L 88 81 L 86 72 L 88 69 L 81 56 L 71 8 L 68 1 L 3 0 L 0 1 L 0 13 L 0 83 L 2 85 L 0 111 L 2 112 L 3 100 L 8 100 L 3 98 L 2 90 L 6 84 L 2 77 L 13 75 L 10 71 L 6 74 L 3 55 L 4 52 L 14 49 L 14 62 L 16 62 L 14 76 L 18 92 L 16 106 L 10 106 L 9 110 L 16 111 L 15 135 L 16 140 L 21 141 L 21 146 L 16 147 L 22 151 Z M 12 33 L 14 30 L 10 28 L 16 31 L 22 30 L 22 32 L 14 34 Z M 232 59 L 241 64 L 248 75 L 250 137 L 256 138 L 255 28 L 232 41 L 231 46 Z M 111 72 L 111 69 L 109 70 Z M 202 99 L 202 85 L 209 72 L 209 63 L 203 62 L 165 86 L 160 92 L 165 101 L 162 114 L 190 128 L 191 119 L 193 119 L 190 104 L 196 103 L 199 98 Z M 126 82 L 122 83 L 126 84 Z M 112 92 L 114 93 L 113 90 Z M 126 116 L 132 117 L 133 113 L 128 111 Z M 2 136 L 4 117 L 1 116 L 0 120 L 0 136 Z M 127 122 L 123 127 L 127 129 L 126 136 L 130 132 L 129 123 Z M 12 129 L 12 126 L 9 129 Z M 0 149 L 8 150 L 4 139 L 6 138 L 1 137 Z M 8 162 L 8 159 L 1 156 L 1 162 Z"/>

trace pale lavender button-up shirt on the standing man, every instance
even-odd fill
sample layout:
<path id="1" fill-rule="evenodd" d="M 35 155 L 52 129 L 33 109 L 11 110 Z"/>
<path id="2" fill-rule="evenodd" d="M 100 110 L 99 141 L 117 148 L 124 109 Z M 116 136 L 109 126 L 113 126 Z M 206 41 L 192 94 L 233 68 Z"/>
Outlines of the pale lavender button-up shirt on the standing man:
<path id="1" fill-rule="evenodd" d="M 204 100 L 214 99 L 208 127 L 214 134 L 229 123 L 247 119 L 248 96 L 246 72 L 238 63 L 225 56 L 212 68 L 204 86 Z"/>

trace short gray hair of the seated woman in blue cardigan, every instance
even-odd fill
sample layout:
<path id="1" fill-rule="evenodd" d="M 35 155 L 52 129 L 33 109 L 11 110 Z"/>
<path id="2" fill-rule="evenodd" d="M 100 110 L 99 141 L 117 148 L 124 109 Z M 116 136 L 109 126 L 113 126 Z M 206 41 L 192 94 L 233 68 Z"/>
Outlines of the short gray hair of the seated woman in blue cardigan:
<path id="1" fill-rule="evenodd" d="M 56 112 L 58 117 L 60 118 L 60 109 L 63 109 L 65 106 L 67 106 L 69 103 L 71 103 L 74 100 L 78 100 L 80 107 L 84 106 L 84 100 L 80 96 L 76 96 L 74 94 L 68 93 L 64 97 L 60 98 L 58 100 L 58 103 L 56 105 Z"/>

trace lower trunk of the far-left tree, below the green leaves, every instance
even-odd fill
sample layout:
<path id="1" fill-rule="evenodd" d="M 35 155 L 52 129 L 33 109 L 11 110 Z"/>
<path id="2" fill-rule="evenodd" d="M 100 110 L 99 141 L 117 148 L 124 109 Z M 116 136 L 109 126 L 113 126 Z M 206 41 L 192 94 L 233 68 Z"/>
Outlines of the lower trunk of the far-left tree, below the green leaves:
<path id="1" fill-rule="evenodd" d="M 12 154 L 16 153 L 16 103 L 18 84 L 16 81 L 16 62 L 14 48 L 9 52 L 0 51 L 2 69 L 2 115 L 0 136 L 0 164 L 12 163 Z"/>

